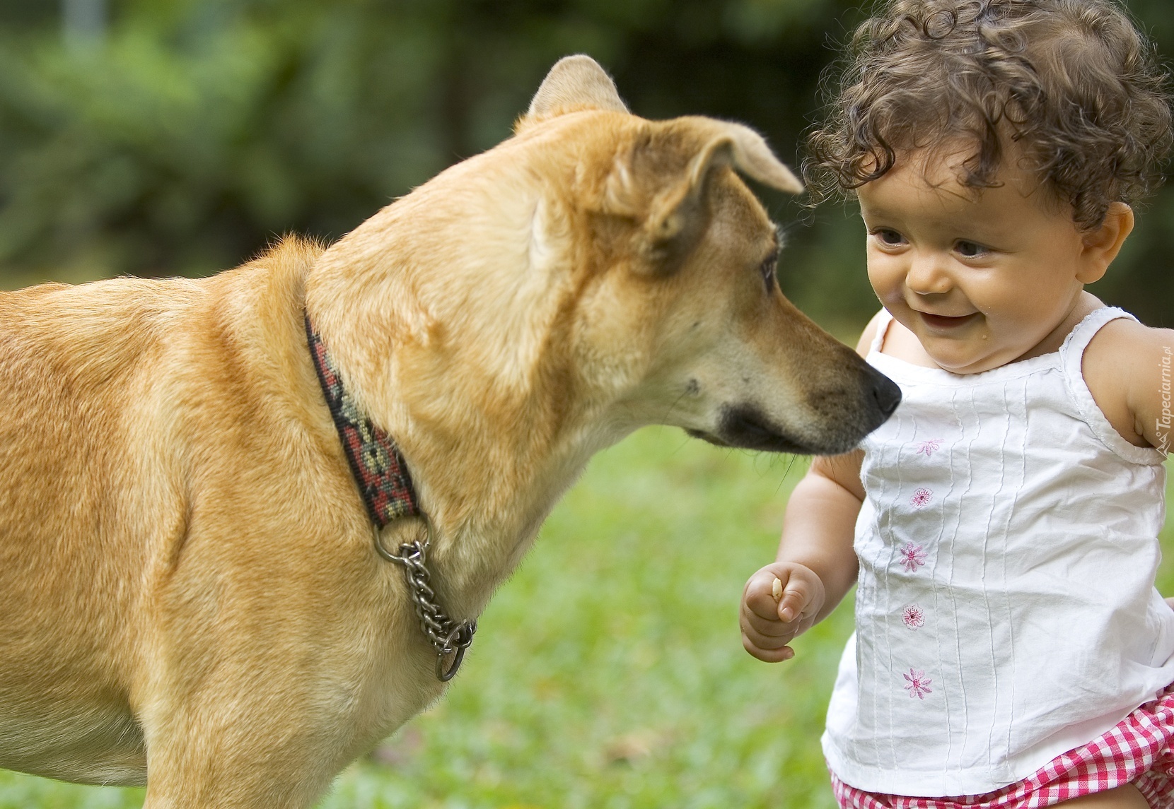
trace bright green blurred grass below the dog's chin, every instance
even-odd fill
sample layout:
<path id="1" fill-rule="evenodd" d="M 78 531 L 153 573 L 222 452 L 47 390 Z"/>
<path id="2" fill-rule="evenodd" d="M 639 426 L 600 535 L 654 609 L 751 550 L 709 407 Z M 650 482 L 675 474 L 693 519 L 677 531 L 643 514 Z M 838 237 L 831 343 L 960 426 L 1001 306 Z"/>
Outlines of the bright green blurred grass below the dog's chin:
<path id="1" fill-rule="evenodd" d="M 448 695 L 321 807 L 831 809 L 819 734 L 851 612 L 778 666 L 742 651 L 736 618 L 805 469 L 662 428 L 598 456 L 490 604 Z M 1163 539 L 1174 550 L 1170 526 Z M 1174 592 L 1174 565 L 1160 585 Z M 141 802 L 0 771 L 0 809 Z"/>

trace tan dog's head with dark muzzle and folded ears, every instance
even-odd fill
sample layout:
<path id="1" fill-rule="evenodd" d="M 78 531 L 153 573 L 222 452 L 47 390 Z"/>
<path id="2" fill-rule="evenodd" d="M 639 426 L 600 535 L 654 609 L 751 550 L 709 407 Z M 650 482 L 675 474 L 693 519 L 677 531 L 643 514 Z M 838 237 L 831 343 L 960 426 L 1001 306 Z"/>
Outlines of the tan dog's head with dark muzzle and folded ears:
<path id="1" fill-rule="evenodd" d="M 630 116 L 587 56 L 555 64 L 518 132 L 581 142 L 572 132 L 603 127 L 576 150 L 583 219 L 606 258 L 576 302 L 575 342 L 601 376 L 625 380 L 622 412 L 798 453 L 846 450 L 880 424 L 899 389 L 778 288 L 778 229 L 738 172 L 803 186 L 763 138 L 713 118 Z"/>

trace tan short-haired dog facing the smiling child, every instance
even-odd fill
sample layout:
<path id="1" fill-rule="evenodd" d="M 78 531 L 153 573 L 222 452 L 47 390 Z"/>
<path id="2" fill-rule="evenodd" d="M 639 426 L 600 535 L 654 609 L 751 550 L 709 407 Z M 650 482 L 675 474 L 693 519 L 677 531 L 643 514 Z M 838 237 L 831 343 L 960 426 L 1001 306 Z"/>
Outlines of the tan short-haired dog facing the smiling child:
<path id="1" fill-rule="evenodd" d="M 309 807 L 439 696 L 305 312 L 414 480 L 425 516 L 383 546 L 426 533 L 457 618 L 642 424 L 796 453 L 878 426 L 896 387 L 780 293 L 731 166 L 801 190 L 749 129 L 641 120 L 569 57 L 514 137 L 329 249 L 2 293 L 0 766 L 147 782 L 150 809 Z"/>

